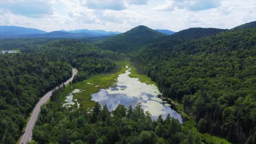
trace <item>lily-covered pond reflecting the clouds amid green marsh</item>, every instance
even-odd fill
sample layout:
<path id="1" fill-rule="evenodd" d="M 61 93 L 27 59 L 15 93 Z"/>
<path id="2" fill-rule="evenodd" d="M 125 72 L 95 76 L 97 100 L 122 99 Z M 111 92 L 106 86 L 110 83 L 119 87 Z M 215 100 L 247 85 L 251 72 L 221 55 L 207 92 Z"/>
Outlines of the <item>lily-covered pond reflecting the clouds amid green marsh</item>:
<path id="1" fill-rule="evenodd" d="M 137 103 L 142 103 L 144 111 L 149 111 L 152 118 L 156 119 L 159 115 L 166 118 L 168 113 L 177 118 L 182 123 L 182 117 L 176 111 L 172 110 L 166 101 L 158 98 L 160 94 L 155 85 L 147 85 L 139 82 L 137 78 L 129 77 L 130 70 L 118 76 L 118 82 L 114 87 L 101 89 L 99 92 L 92 94 L 92 100 L 98 101 L 101 105 L 107 105 L 110 111 L 115 110 L 118 105 L 130 105 L 134 108 Z"/>

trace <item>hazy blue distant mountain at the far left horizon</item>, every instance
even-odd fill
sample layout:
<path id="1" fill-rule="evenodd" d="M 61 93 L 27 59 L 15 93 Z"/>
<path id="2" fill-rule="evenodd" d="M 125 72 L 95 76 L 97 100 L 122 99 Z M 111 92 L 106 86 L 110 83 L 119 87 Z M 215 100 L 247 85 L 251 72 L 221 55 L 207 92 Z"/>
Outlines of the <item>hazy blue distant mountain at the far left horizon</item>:
<path id="1" fill-rule="evenodd" d="M 3 35 L 21 35 L 21 34 L 43 34 L 45 31 L 35 29 L 35 28 L 26 28 L 18 26 L 0 26 L 0 38 Z"/>

